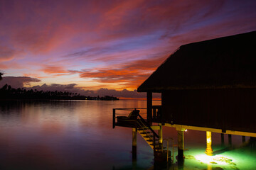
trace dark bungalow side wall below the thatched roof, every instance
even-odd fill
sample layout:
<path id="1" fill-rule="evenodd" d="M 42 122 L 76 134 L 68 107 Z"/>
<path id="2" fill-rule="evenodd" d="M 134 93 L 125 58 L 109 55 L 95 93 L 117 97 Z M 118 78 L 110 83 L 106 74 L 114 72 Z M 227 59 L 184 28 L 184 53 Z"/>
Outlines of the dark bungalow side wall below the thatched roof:
<path id="1" fill-rule="evenodd" d="M 256 132 L 256 89 L 164 91 L 162 109 L 166 123 Z"/>

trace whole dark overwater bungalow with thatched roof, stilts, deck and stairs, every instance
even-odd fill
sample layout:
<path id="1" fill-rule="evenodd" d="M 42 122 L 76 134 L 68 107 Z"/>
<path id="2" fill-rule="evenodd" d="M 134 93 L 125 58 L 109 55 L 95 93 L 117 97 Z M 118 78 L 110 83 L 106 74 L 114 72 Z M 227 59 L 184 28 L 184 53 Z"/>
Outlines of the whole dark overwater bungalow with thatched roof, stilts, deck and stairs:
<path id="1" fill-rule="evenodd" d="M 179 158 L 187 129 L 206 131 L 208 155 L 211 132 L 230 141 L 231 135 L 256 137 L 256 31 L 181 45 L 137 91 L 146 92 L 146 118 L 139 108 L 127 118 L 113 109 L 113 128 L 132 128 L 134 148 L 139 132 L 155 159 L 164 152 L 162 126 L 176 128 Z M 161 106 L 152 106 L 152 93 L 161 93 Z"/>

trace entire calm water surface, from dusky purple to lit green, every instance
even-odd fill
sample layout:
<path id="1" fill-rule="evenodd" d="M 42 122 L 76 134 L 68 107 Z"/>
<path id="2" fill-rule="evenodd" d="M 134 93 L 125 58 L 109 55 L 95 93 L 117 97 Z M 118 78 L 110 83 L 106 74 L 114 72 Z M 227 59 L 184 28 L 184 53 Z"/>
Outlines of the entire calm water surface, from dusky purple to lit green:
<path id="1" fill-rule="evenodd" d="M 154 101 L 161 105 L 161 101 Z M 146 101 L 43 101 L 0 103 L 0 169 L 160 169 L 153 150 L 137 135 L 132 162 L 132 129 L 112 129 L 112 108 L 145 108 Z M 164 139 L 174 128 L 164 127 Z M 166 169 L 256 169 L 255 144 L 221 145 L 213 133 L 215 160 L 205 163 L 206 132 L 185 132 L 185 162 Z M 172 147 L 170 147 L 172 150 Z M 174 156 L 177 150 L 174 148 Z"/>

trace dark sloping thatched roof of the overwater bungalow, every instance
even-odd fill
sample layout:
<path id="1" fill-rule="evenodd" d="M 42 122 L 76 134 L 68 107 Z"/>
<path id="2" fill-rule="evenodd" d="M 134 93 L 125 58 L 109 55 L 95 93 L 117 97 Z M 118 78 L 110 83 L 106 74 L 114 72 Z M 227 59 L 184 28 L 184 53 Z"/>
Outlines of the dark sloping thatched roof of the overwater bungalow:
<path id="1" fill-rule="evenodd" d="M 138 91 L 256 88 L 256 31 L 182 45 Z"/>

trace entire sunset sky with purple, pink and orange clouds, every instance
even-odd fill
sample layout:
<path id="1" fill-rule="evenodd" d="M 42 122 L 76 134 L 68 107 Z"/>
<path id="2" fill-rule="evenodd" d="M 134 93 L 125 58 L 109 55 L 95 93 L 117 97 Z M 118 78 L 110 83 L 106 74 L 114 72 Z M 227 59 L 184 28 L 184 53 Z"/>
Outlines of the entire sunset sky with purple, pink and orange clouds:
<path id="1" fill-rule="evenodd" d="M 179 46 L 256 30 L 256 1 L 0 0 L 0 86 L 144 98 Z"/>

